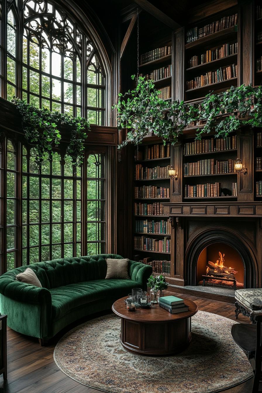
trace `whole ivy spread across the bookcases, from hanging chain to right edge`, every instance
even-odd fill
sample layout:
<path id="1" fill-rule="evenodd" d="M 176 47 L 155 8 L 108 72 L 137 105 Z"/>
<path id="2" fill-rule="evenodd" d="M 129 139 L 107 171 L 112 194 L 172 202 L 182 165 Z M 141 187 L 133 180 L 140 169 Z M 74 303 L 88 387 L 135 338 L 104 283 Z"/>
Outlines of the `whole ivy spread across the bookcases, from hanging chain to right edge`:
<path id="1" fill-rule="evenodd" d="M 132 75 L 132 79 L 135 76 Z M 187 104 L 183 101 L 165 101 L 159 98 L 154 81 L 139 77 L 134 90 L 119 94 L 117 127 L 127 129 L 126 140 L 138 145 L 148 132 L 176 143 L 183 129 L 190 123 L 202 121 L 204 126 L 196 130 L 196 139 L 214 131 L 216 138 L 225 138 L 240 129 L 241 125 L 262 127 L 262 86 L 231 86 L 229 90 L 207 94 L 202 104 Z"/>

